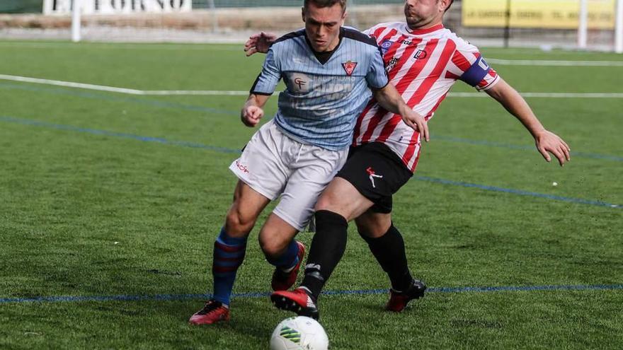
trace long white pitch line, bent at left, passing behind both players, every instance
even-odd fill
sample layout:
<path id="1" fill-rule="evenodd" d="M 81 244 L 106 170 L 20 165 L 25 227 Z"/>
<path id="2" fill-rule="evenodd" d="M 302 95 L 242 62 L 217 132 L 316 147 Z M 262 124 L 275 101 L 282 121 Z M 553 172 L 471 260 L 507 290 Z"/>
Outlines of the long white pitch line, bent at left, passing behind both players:
<path id="1" fill-rule="evenodd" d="M 74 83 L 71 81 L 58 81 L 50 79 L 29 78 L 27 76 L 9 76 L 0 74 L 0 80 L 19 81 L 22 83 L 37 83 L 44 85 L 62 86 L 65 88 L 82 88 L 86 90 L 108 91 L 110 93 L 125 93 L 128 95 L 215 95 L 215 96 L 246 96 L 248 91 L 211 91 L 211 90 L 137 90 L 132 88 L 115 88 L 86 83 Z M 521 93 L 525 98 L 623 98 L 623 93 Z M 486 93 L 450 93 L 448 97 L 456 98 L 484 98 Z"/>

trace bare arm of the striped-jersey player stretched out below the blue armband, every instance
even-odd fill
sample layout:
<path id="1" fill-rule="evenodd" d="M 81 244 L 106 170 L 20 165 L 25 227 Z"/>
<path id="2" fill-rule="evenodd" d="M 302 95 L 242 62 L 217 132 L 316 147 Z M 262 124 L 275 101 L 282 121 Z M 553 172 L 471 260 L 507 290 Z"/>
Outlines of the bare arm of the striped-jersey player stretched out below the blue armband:
<path id="1" fill-rule="evenodd" d="M 500 81 L 486 92 L 501 103 L 510 114 L 519 119 L 524 127 L 528 129 L 535 138 L 537 150 L 539 150 L 546 161 L 551 161 L 549 153 L 558 159 L 560 166 L 563 166 L 567 161 L 571 161 L 571 155 L 569 154 L 571 148 L 558 135 L 549 132 L 543 127 L 535 113 L 532 112 L 530 105 L 512 86 L 500 78 Z"/>

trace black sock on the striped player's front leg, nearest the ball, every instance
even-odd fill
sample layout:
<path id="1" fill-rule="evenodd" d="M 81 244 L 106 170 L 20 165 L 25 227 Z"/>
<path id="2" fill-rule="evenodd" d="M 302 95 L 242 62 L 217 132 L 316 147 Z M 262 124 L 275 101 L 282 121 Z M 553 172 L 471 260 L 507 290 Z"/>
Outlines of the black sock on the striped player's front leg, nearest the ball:
<path id="1" fill-rule="evenodd" d="M 348 221 L 333 211 L 316 211 L 316 234 L 311 240 L 305 277 L 301 283 L 311 291 L 314 301 L 346 250 Z"/>

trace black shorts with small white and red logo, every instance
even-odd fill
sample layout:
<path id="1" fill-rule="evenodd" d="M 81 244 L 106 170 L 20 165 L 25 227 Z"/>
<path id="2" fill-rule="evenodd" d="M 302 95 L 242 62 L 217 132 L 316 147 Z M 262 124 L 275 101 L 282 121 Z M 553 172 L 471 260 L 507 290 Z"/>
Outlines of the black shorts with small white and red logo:
<path id="1" fill-rule="evenodd" d="M 389 214 L 392 194 L 406 184 L 413 173 L 388 146 L 371 142 L 351 147 L 348 161 L 336 176 L 353 184 L 360 194 L 374 202 L 372 211 Z"/>

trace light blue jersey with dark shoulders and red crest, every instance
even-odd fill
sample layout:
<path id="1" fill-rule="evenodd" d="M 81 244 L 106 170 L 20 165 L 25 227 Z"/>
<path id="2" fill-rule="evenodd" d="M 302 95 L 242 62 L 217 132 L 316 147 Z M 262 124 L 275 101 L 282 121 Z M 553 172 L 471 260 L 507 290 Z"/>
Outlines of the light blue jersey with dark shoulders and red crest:
<path id="1" fill-rule="evenodd" d="M 281 78 L 286 89 L 275 124 L 292 139 L 333 151 L 352 143 L 355 121 L 372 95 L 368 87 L 389 83 L 375 40 L 350 28 L 340 29 L 340 43 L 329 54 L 314 52 L 305 30 L 280 37 L 251 93 L 272 95 Z"/>

